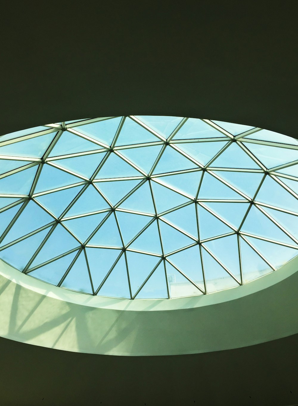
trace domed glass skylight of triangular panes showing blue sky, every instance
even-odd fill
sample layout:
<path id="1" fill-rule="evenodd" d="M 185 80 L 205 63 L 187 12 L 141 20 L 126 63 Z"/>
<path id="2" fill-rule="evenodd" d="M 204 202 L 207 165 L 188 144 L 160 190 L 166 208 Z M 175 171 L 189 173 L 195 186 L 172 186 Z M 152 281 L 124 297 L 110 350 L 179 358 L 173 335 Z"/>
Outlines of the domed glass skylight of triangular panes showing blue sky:
<path id="1" fill-rule="evenodd" d="M 175 298 L 298 254 L 298 141 L 183 117 L 104 117 L 0 137 L 0 258 L 57 286 Z"/>

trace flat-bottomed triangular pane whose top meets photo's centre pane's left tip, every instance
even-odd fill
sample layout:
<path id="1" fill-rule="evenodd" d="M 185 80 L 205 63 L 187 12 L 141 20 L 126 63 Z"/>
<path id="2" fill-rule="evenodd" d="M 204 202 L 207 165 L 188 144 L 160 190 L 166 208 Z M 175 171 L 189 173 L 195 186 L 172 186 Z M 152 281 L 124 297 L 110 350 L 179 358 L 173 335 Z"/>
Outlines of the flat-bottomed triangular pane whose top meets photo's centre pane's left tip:
<path id="1" fill-rule="evenodd" d="M 88 244 L 105 247 L 123 247 L 119 229 L 113 214 L 110 215 L 95 235 L 93 235 Z"/>

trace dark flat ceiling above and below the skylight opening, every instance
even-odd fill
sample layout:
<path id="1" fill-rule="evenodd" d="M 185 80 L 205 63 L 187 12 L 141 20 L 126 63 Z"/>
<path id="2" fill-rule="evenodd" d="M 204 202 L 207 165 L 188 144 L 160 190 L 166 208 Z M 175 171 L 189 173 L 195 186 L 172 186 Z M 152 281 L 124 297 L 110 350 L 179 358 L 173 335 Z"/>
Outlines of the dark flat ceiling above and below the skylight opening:
<path id="1" fill-rule="evenodd" d="M 70 119 L 162 114 L 298 138 L 298 3 L 174 7 L 6 2 L 0 133 Z M 0 339 L 0 401 L 290 405 L 298 402 L 297 344 L 298 335 L 216 353 L 130 358 Z"/>

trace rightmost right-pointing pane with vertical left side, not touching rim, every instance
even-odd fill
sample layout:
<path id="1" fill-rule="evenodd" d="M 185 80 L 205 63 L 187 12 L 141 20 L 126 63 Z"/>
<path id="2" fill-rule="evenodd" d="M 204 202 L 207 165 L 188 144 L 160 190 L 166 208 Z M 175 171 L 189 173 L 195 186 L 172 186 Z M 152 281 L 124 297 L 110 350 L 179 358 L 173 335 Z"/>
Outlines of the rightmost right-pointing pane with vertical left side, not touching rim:
<path id="1" fill-rule="evenodd" d="M 200 239 L 216 237 L 226 233 L 231 233 L 233 230 L 226 226 L 222 221 L 218 220 L 213 214 L 207 212 L 203 207 L 198 205 L 199 211 L 199 227 Z"/>

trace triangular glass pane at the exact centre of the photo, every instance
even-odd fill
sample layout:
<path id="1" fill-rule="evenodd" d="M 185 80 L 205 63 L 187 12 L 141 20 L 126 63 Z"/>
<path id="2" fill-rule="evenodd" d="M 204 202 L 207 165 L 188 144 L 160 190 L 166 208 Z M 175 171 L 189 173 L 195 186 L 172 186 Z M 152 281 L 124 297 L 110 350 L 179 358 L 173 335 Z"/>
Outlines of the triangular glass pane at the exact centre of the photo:
<path id="1" fill-rule="evenodd" d="M 135 212 L 155 214 L 149 183 L 140 186 L 119 207 Z"/>

